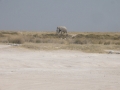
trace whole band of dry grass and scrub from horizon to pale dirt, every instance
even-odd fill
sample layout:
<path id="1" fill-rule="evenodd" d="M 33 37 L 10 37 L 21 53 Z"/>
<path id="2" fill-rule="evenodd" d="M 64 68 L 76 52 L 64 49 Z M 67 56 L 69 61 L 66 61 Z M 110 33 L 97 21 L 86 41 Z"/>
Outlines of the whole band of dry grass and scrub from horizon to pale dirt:
<path id="1" fill-rule="evenodd" d="M 70 32 L 67 36 L 55 32 L 0 31 L 1 43 L 22 44 L 30 49 L 70 49 L 102 53 L 106 49 L 120 50 L 119 32 Z"/>

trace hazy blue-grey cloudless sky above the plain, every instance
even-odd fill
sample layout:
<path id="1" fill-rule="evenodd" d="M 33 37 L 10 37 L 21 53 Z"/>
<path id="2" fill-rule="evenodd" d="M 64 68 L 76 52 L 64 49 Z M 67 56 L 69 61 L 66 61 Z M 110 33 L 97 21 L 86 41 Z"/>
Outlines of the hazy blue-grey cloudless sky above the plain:
<path id="1" fill-rule="evenodd" d="M 0 30 L 120 32 L 120 0 L 0 0 Z"/>

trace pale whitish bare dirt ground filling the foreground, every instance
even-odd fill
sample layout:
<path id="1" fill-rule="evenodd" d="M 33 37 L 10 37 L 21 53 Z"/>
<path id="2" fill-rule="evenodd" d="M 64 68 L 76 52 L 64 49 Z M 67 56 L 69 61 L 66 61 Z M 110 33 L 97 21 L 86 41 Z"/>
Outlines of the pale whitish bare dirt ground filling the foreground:
<path id="1" fill-rule="evenodd" d="M 0 90 L 120 90 L 120 55 L 0 45 Z"/>

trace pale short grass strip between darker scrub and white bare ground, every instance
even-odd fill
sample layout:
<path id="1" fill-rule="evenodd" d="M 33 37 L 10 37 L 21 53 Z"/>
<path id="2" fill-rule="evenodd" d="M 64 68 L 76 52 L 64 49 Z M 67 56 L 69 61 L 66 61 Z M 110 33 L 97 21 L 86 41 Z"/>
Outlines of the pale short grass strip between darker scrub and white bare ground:
<path id="1" fill-rule="evenodd" d="M 100 44 L 53 44 L 53 43 L 24 43 L 24 48 L 34 50 L 78 50 L 87 53 L 105 53 L 105 50 L 120 50 L 119 45 L 100 45 Z"/>

